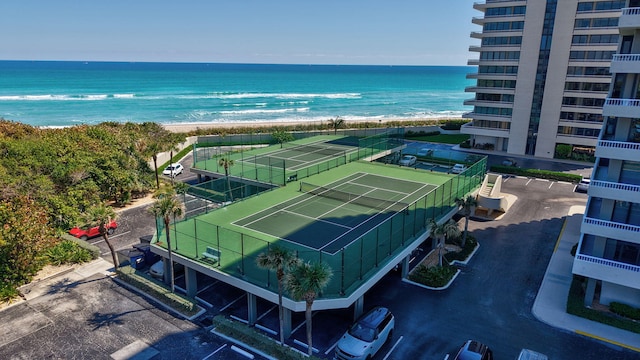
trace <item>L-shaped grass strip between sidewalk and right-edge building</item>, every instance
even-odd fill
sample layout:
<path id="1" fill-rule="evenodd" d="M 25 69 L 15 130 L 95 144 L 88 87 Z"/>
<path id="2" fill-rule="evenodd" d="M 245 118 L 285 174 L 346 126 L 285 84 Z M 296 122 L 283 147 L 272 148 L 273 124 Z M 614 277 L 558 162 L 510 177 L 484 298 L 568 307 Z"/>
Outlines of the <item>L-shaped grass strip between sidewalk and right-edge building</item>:
<path id="1" fill-rule="evenodd" d="M 584 306 L 584 278 L 574 276 L 569 289 L 569 297 L 567 298 L 567 313 L 582 318 L 596 321 L 605 325 L 617 327 L 640 334 L 640 323 L 631 319 L 625 319 L 621 316 L 590 309 Z"/>

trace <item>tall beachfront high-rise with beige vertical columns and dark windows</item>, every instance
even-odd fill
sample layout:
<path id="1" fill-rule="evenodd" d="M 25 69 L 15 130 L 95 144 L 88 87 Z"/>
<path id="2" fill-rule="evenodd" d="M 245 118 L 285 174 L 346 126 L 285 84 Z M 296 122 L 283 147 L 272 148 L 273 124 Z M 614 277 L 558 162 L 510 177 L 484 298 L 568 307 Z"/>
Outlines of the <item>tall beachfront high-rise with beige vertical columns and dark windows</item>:
<path id="1" fill-rule="evenodd" d="M 625 0 L 487 0 L 474 8 L 482 32 L 471 146 L 542 158 L 592 155 L 604 118 L 611 57 Z M 559 156 L 556 156 L 556 152 Z"/>

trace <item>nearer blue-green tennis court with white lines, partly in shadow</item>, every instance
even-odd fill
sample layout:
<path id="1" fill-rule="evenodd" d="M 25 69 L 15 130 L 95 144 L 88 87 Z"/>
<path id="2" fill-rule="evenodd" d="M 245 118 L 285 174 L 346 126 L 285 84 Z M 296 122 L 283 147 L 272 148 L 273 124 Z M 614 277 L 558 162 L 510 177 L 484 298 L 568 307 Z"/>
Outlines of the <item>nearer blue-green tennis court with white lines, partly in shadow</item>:
<path id="1" fill-rule="evenodd" d="M 234 225 L 334 254 L 436 188 L 358 172 L 325 186 L 300 182 L 300 195 Z"/>

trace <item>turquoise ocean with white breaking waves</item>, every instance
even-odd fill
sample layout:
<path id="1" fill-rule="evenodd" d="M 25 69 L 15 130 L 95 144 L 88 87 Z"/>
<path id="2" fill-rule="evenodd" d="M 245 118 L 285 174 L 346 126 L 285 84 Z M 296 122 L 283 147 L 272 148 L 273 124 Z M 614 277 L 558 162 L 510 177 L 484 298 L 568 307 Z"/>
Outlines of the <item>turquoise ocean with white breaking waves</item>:
<path id="1" fill-rule="evenodd" d="M 468 66 L 0 61 L 0 117 L 34 126 L 460 117 Z"/>

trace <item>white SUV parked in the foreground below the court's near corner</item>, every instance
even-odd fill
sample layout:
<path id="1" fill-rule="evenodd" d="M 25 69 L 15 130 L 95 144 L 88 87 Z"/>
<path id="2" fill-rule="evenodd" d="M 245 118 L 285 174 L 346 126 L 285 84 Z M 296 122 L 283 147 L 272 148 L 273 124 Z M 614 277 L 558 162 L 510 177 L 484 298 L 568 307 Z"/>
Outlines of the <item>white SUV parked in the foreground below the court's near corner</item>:
<path id="1" fill-rule="evenodd" d="M 334 360 L 371 359 L 391 339 L 395 318 L 378 306 L 362 315 L 336 345 Z"/>

